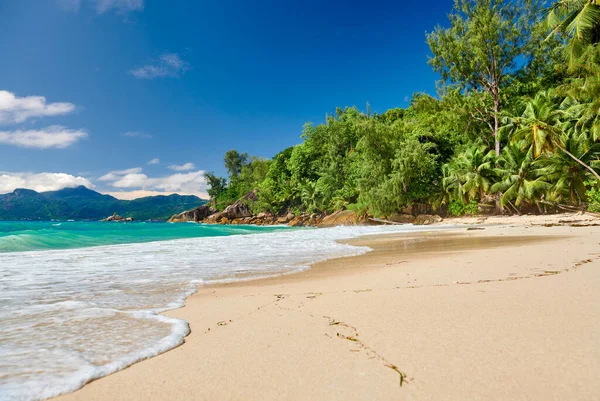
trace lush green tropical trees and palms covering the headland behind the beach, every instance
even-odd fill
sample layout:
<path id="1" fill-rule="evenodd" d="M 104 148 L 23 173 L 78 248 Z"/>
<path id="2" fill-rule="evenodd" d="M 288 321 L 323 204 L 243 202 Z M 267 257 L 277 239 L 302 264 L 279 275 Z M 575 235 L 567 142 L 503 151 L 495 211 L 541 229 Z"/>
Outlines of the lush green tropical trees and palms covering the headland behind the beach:
<path id="1" fill-rule="evenodd" d="M 600 2 L 456 0 L 449 22 L 426 38 L 437 96 L 337 109 L 271 160 L 227 152 L 217 208 L 256 191 L 273 213 L 599 210 Z"/>

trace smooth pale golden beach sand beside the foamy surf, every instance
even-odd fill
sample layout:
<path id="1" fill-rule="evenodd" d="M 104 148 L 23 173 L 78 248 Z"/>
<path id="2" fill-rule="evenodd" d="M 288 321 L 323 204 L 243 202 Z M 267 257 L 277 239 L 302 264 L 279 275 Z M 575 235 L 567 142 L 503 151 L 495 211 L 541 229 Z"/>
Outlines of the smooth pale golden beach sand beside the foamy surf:
<path id="1" fill-rule="evenodd" d="M 561 219 L 596 224 L 364 237 L 365 255 L 202 288 L 168 313 L 184 345 L 58 399 L 598 400 L 600 227 Z"/>

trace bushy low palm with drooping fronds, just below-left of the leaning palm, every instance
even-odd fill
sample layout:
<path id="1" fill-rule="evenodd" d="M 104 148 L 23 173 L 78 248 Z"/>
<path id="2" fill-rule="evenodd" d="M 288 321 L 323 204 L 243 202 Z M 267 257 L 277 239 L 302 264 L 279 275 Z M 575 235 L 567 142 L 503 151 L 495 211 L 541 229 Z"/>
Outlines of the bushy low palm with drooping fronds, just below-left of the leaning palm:
<path id="1" fill-rule="evenodd" d="M 504 147 L 499 166 L 494 169 L 502 181 L 492 185 L 492 193 L 501 193 L 500 205 L 518 207 L 531 204 L 551 185 L 537 171 L 533 159 L 533 147 L 525 149 L 522 142 L 513 142 Z M 514 205 L 513 203 L 514 202 Z"/>

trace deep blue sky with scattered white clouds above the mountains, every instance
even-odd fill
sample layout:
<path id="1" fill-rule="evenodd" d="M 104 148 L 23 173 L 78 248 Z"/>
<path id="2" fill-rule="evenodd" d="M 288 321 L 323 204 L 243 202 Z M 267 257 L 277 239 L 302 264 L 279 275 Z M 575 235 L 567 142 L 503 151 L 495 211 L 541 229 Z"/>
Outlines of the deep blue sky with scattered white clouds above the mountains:
<path id="1" fill-rule="evenodd" d="M 85 185 L 206 197 L 336 107 L 435 94 L 452 0 L 0 0 L 0 193 Z"/>

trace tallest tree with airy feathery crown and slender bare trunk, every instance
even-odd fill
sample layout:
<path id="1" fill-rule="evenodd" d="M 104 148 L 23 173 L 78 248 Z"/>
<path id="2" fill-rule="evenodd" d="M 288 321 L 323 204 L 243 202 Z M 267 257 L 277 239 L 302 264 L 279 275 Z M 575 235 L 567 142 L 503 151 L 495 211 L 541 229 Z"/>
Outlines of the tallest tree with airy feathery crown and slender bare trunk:
<path id="1" fill-rule="evenodd" d="M 489 97 L 480 102 L 484 111 L 480 114 L 492 121 L 494 149 L 500 155 L 500 91 L 531 58 L 538 2 L 455 0 L 454 4 L 451 27 L 438 26 L 427 35 L 433 53 L 429 64 L 447 83 Z"/>

